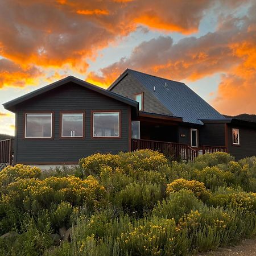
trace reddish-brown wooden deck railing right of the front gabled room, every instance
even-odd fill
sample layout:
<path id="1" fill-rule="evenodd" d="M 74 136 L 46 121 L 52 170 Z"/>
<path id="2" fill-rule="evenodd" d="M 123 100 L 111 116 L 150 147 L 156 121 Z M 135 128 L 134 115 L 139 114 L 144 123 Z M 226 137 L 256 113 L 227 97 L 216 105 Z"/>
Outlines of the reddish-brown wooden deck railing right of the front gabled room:
<path id="1" fill-rule="evenodd" d="M 131 150 L 141 149 L 157 150 L 160 153 L 173 155 L 176 159 L 194 161 L 199 155 L 199 151 L 202 150 L 203 154 L 209 152 L 226 152 L 226 147 L 222 146 L 203 146 L 203 148 L 194 149 L 188 144 L 181 144 L 175 142 L 163 142 L 163 141 L 150 141 L 146 139 L 131 139 Z"/>

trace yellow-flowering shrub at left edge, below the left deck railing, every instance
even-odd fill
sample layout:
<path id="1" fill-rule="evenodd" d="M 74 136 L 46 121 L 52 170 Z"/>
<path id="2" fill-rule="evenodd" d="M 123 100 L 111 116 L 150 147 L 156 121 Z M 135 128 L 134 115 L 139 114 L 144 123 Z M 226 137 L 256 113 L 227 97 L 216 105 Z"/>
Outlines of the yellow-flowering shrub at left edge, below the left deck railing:
<path id="1" fill-rule="evenodd" d="M 0 189 L 6 188 L 8 184 L 17 179 L 31 179 L 40 175 L 41 170 L 37 167 L 24 166 L 23 164 L 7 166 L 0 172 Z"/>

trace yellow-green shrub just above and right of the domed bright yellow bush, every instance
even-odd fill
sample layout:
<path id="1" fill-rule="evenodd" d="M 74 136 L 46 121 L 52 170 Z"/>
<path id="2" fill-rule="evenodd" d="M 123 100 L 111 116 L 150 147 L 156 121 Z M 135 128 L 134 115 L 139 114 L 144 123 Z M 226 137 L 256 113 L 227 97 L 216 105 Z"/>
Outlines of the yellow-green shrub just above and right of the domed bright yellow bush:
<path id="1" fill-rule="evenodd" d="M 203 170 L 195 170 L 193 175 L 195 175 L 196 180 L 203 182 L 210 189 L 235 183 L 232 172 L 221 171 L 216 166 L 205 167 Z"/>

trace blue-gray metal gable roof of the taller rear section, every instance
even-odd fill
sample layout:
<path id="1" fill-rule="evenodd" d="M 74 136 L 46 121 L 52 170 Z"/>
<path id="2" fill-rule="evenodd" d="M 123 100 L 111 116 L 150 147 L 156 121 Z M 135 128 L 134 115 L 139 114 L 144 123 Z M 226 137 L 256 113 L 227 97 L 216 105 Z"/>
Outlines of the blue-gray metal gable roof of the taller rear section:
<path id="1" fill-rule="evenodd" d="M 134 76 L 145 89 L 154 95 L 160 104 L 167 108 L 173 115 L 182 117 L 184 122 L 203 125 L 200 119 L 225 119 L 223 115 L 218 113 L 217 110 L 183 82 L 148 75 L 134 71 L 133 69 L 126 69 L 126 71 L 109 86 L 108 90 L 112 90 L 127 74 Z"/>

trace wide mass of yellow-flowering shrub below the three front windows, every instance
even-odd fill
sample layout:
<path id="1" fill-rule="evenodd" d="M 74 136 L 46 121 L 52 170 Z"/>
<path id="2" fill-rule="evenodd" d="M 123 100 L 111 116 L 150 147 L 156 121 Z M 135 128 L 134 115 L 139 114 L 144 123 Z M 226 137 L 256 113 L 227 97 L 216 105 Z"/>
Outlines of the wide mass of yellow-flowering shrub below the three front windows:
<path id="1" fill-rule="evenodd" d="M 67 201 L 72 205 L 83 202 L 93 207 L 104 197 L 105 188 L 93 176 L 81 180 L 75 176 L 19 179 L 7 187 L 7 196 L 17 205 L 37 201 L 49 207 L 53 203 Z M 28 205 L 28 204 L 27 204 Z"/>

